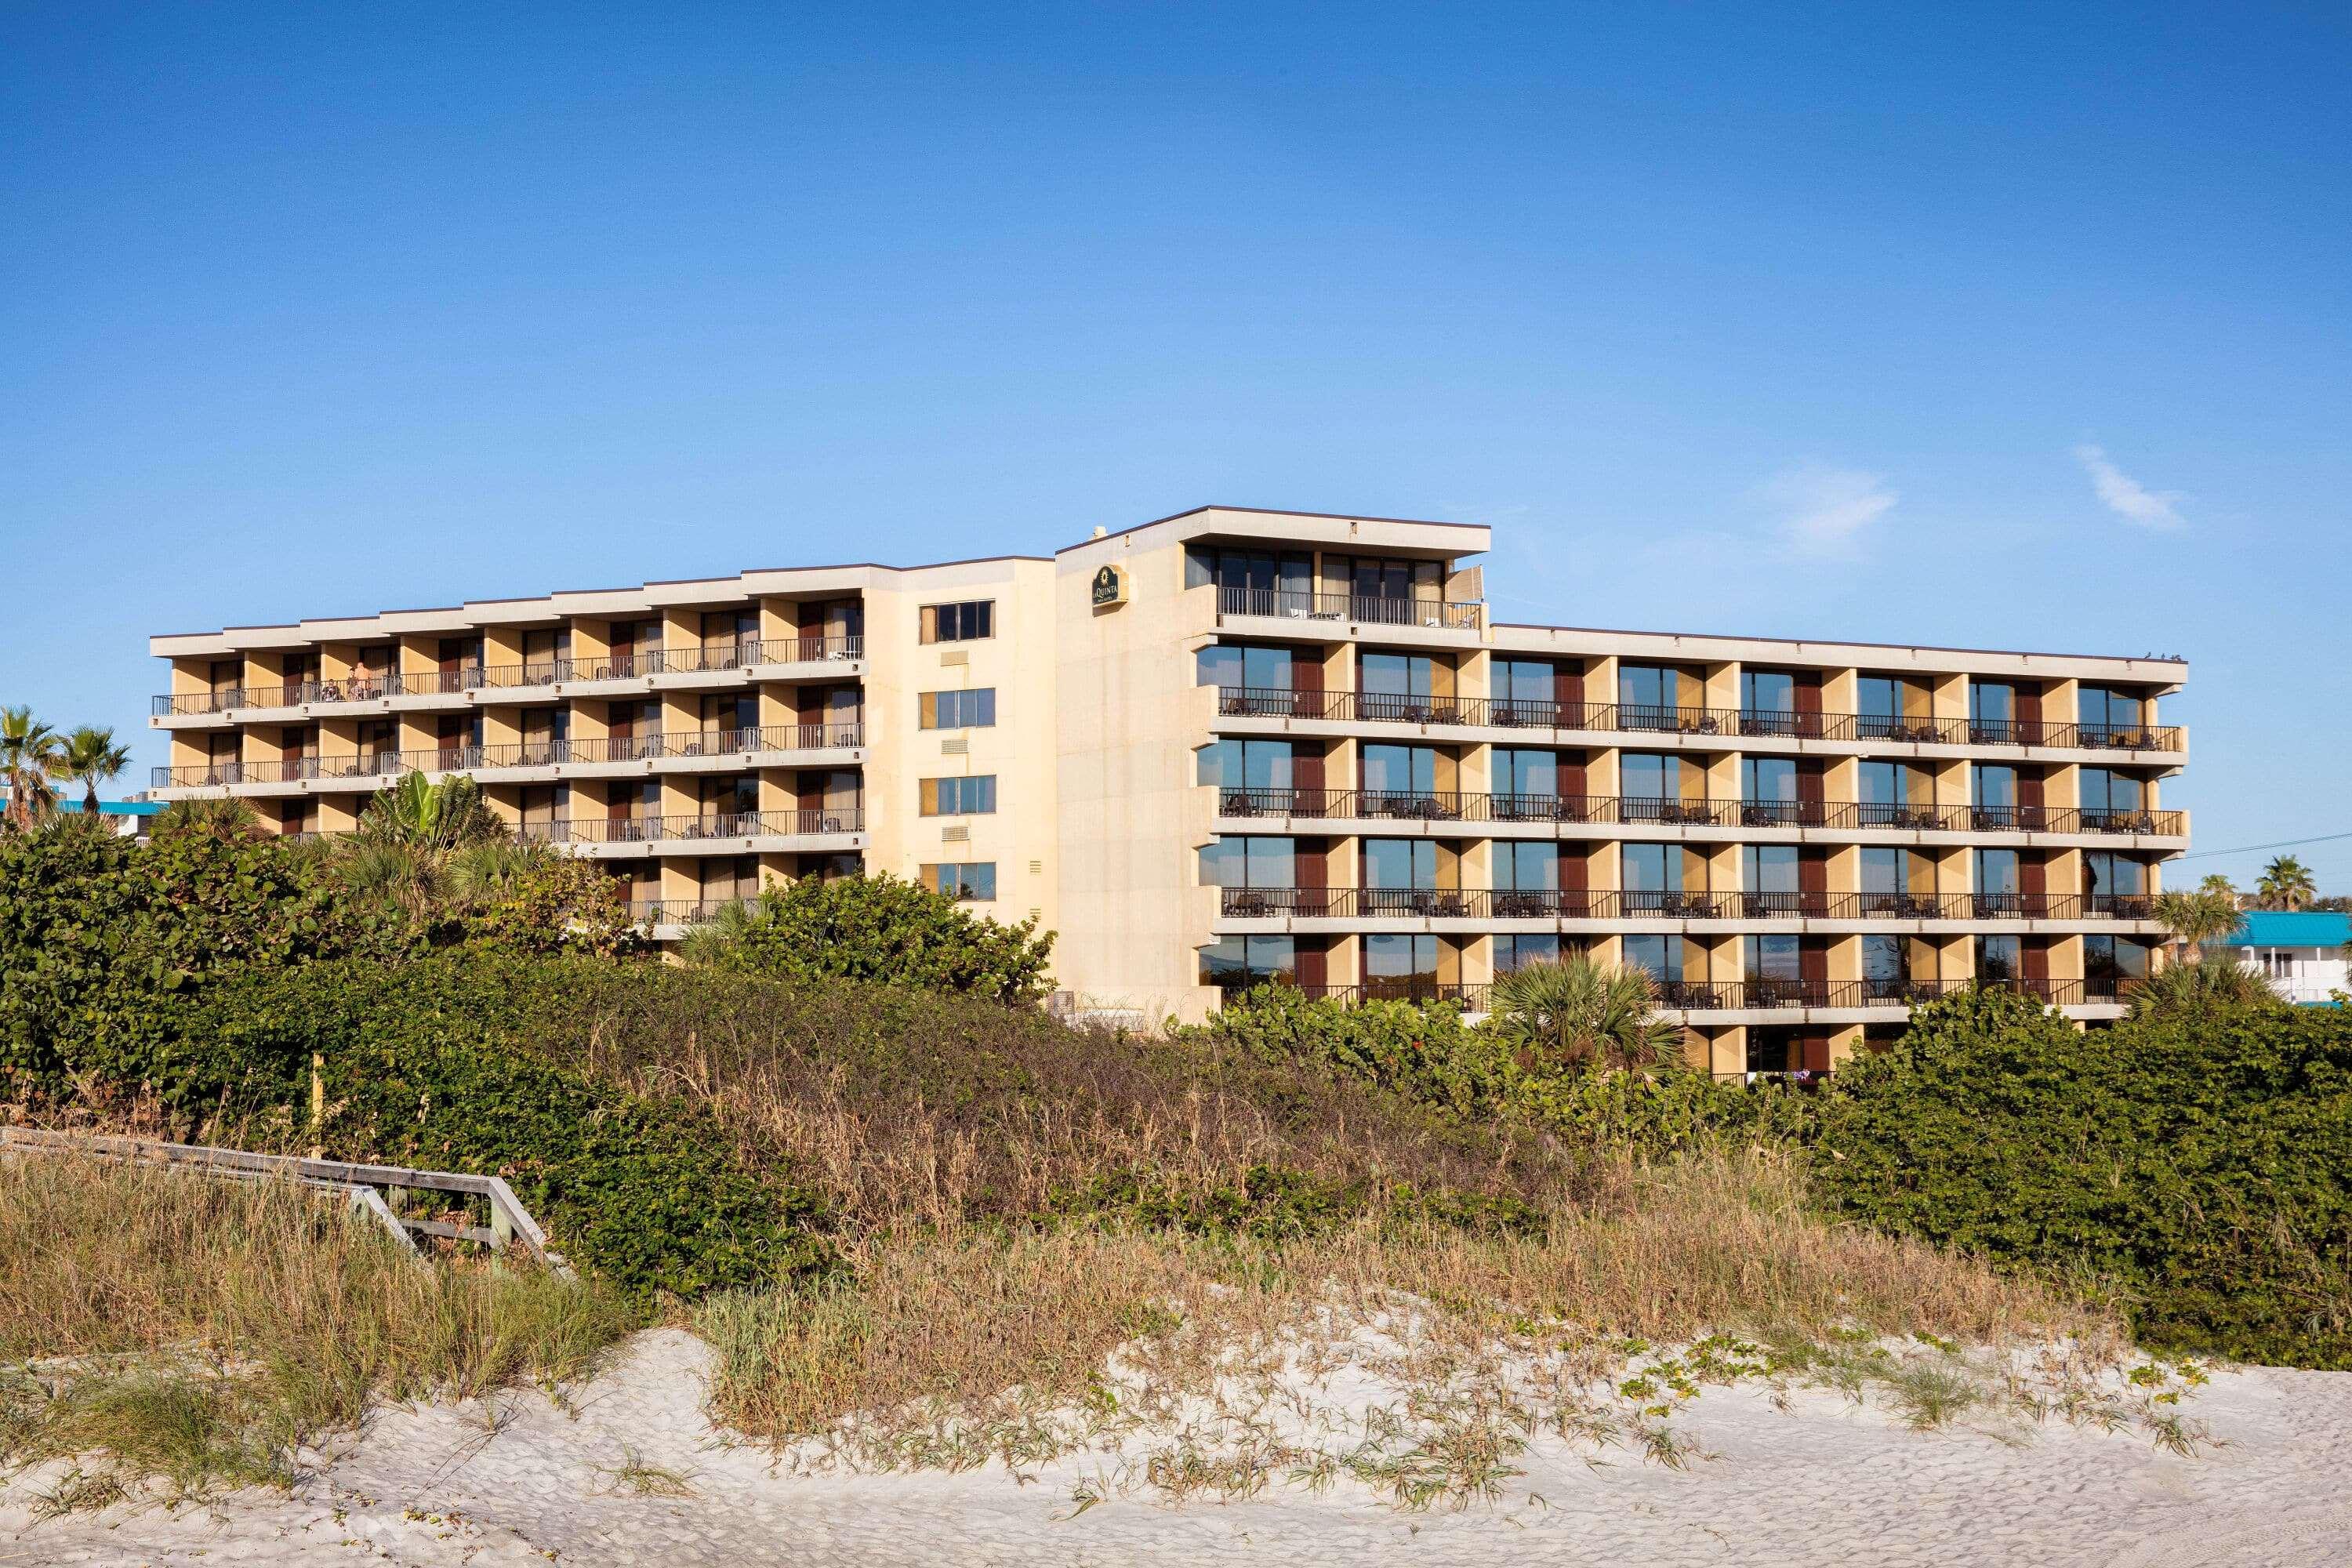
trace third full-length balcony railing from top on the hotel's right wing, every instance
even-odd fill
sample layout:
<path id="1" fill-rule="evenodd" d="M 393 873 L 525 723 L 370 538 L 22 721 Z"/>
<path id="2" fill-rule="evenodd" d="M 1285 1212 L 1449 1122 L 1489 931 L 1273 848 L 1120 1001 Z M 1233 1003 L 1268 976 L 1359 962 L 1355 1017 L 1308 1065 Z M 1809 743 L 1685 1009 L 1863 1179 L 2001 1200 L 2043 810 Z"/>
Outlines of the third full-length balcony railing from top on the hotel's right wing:
<path id="1" fill-rule="evenodd" d="M 1223 919 L 1451 922 L 2145 922 L 2152 898 L 2114 893 L 1745 893 L 1651 889 L 1218 889 Z"/>

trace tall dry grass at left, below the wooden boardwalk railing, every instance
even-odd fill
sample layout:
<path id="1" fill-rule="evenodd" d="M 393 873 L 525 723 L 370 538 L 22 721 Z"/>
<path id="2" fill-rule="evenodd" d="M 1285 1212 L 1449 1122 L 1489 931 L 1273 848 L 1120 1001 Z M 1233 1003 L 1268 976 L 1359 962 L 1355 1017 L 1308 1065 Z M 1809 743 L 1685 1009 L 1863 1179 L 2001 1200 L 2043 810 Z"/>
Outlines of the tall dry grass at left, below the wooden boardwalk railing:
<path id="1" fill-rule="evenodd" d="M 0 1159 L 0 1469 L 280 1481 L 374 1399 L 574 1378 L 635 1321 L 546 1274 L 419 1267 L 313 1192 Z"/>

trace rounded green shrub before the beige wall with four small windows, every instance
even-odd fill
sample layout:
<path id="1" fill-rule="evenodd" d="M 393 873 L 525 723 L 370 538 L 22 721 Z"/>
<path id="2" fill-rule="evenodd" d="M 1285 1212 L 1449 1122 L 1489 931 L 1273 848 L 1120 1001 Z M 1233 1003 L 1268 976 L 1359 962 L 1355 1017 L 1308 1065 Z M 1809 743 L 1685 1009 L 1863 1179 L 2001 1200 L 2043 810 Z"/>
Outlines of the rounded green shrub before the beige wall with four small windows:
<path id="1" fill-rule="evenodd" d="M 927 886 L 882 877 L 802 877 L 696 931 L 691 964 L 781 980 L 875 980 L 1037 1001 L 1054 933 L 1002 926 Z"/>

